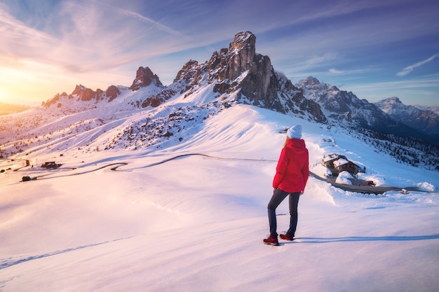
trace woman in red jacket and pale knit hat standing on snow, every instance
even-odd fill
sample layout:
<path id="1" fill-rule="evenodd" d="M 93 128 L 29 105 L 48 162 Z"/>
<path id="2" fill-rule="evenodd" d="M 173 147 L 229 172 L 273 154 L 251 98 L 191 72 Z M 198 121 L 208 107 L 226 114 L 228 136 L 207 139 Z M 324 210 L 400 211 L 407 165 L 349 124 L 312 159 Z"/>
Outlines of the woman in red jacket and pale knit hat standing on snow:
<path id="1" fill-rule="evenodd" d="M 294 125 L 287 131 L 287 139 L 281 151 L 273 179 L 273 196 L 268 205 L 270 236 L 264 244 L 279 245 L 276 208 L 289 195 L 290 228 L 281 239 L 294 240 L 297 227 L 297 204 L 299 196 L 304 193 L 309 174 L 308 149 L 302 138 L 302 125 Z"/>

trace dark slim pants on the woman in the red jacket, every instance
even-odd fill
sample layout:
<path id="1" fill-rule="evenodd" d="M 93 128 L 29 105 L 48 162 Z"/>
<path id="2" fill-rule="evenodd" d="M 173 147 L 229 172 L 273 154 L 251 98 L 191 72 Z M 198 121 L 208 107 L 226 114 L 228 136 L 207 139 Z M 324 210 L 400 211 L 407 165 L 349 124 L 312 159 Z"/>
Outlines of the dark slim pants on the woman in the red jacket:
<path id="1" fill-rule="evenodd" d="M 276 221 L 276 208 L 279 204 L 290 195 L 290 228 L 287 231 L 287 234 L 291 237 L 295 236 L 296 228 L 297 228 L 297 205 L 299 204 L 300 192 L 297 193 L 287 193 L 279 188 L 276 188 L 273 192 L 273 197 L 269 202 L 269 223 L 270 223 L 270 233 L 272 235 L 277 236 L 276 232 L 278 228 L 278 223 Z"/>

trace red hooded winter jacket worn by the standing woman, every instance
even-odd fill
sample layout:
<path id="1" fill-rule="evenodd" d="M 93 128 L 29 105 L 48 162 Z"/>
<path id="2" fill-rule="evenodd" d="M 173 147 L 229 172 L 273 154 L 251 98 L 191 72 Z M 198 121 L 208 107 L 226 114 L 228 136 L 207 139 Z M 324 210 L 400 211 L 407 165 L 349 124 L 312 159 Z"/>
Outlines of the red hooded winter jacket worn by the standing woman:
<path id="1" fill-rule="evenodd" d="M 301 192 L 305 189 L 309 175 L 308 149 L 302 139 L 290 139 L 282 148 L 281 157 L 276 167 L 273 188 L 280 188 L 288 193 Z"/>

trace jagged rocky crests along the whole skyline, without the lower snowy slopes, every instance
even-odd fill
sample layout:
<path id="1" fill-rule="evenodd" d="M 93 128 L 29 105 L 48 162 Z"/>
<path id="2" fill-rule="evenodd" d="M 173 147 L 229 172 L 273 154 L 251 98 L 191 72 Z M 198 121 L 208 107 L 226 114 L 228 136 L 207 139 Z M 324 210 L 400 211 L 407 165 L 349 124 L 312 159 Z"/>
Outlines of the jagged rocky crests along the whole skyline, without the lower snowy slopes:
<path id="1" fill-rule="evenodd" d="M 281 113 L 300 114 L 318 123 L 326 123 L 327 119 L 338 120 L 377 132 L 439 142 L 438 109 L 407 106 L 397 97 L 370 103 L 358 99 L 353 92 L 320 83 L 312 76 L 293 85 L 271 66 L 268 56 L 256 53 L 255 43 L 254 34 L 239 32 L 229 48 L 214 52 L 204 64 L 189 60 L 169 86 L 164 86 L 149 67 L 139 67 L 129 89 L 137 91 L 152 84 L 156 90 L 149 92 L 149 96 L 138 98 L 133 105 L 137 108 L 156 107 L 181 92 L 189 96 L 201 90 L 205 83 L 218 96 L 224 98 L 227 95 L 229 102 L 233 100 Z M 125 89 L 111 85 L 105 91 L 93 91 L 76 85 L 71 95 L 65 92 L 55 95 L 43 106 L 64 104 L 67 107 L 66 101 L 61 102 L 62 97 L 77 102 L 92 99 L 112 102 Z M 74 96 L 78 98 L 74 99 Z"/>

